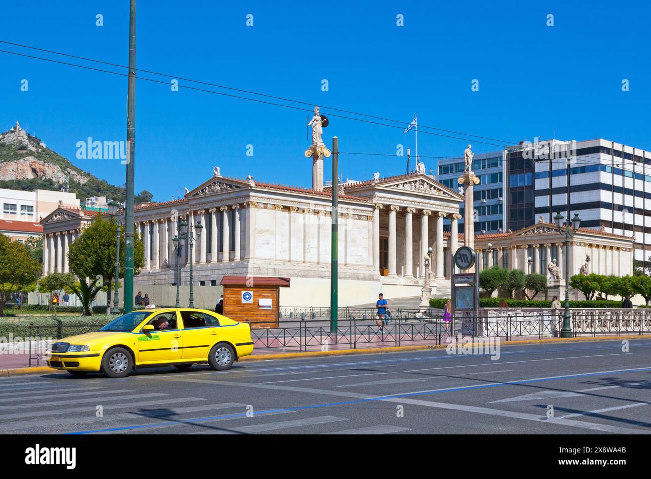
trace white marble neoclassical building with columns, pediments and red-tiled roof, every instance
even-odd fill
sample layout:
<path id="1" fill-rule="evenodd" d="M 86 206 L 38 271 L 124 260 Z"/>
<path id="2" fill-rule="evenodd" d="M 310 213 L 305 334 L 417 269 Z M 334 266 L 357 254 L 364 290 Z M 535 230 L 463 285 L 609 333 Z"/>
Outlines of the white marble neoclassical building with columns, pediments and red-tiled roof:
<path id="1" fill-rule="evenodd" d="M 464 244 L 458 231 L 463 200 L 424 173 L 340 186 L 340 305 L 370 302 L 380 292 L 391 298 L 419 296 L 430 247 L 435 293 L 449 295 L 451 252 Z M 44 274 L 68 271 L 68 245 L 97 214 L 61 205 L 42 220 Z M 332 214 L 327 187 L 233 179 L 215 169 L 182 199 L 136 207 L 145 266 L 135 278 L 135 290 L 155 285 L 173 291 L 177 282 L 189 284 L 190 241 L 185 240 L 180 257 L 173 243 L 185 220 L 202 225 L 201 235 L 193 227 L 193 285 L 216 286 L 225 275 L 290 277 L 292 287 L 281 289 L 283 305 L 327 306 Z M 444 218 L 451 220 L 449 233 L 443 231 Z M 564 239 L 564 229 L 539 222 L 520 231 L 476 235 L 475 249 L 480 269 L 497 264 L 550 276 L 549 263 L 557 259 L 564 276 Z M 630 237 L 580 228 L 572 237 L 570 274 L 579 272 L 587 256 L 589 272 L 631 274 L 632 251 Z"/>

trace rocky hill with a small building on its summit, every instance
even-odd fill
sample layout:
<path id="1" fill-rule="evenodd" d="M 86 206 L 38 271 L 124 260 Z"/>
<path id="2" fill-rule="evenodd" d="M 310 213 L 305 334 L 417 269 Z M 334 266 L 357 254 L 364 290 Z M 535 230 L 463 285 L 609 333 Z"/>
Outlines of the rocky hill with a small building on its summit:
<path id="1" fill-rule="evenodd" d="M 74 166 L 18 124 L 0 134 L 0 188 L 60 190 L 66 177 L 68 191 L 76 193 L 82 202 L 90 196 L 124 201 L 124 188 Z"/>

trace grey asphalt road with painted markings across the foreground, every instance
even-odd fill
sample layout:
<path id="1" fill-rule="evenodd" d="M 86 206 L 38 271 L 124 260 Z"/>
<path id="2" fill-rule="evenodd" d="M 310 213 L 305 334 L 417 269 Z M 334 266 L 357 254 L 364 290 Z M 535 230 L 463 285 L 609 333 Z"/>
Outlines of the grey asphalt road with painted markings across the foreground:
<path id="1" fill-rule="evenodd" d="M 0 379 L 0 434 L 651 433 L 650 389 L 649 340 L 57 373 Z"/>

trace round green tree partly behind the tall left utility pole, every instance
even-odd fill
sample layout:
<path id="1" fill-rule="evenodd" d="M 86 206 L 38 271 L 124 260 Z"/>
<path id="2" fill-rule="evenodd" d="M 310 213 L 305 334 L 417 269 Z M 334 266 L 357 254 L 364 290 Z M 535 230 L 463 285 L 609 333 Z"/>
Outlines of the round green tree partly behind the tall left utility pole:
<path id="1" fill-rule="evenodd" d="M 107 289 L 107 313 L 111 308 L 111 295 L 113 293 L 111 284 L 115 280 L 117 228 L 116 222 L 104 220 L 102 215 L 98 214 L 95 221 L 68 248 L 70 270 L 76 274 L 79 281 L 83 282 L 85 278 L 98 280 L 97 291 L 100 291 L 103 287 Z M 139 235 L 134 233 L 133 274 L 139 274 L 144 264 L 145 246 Z M 122 238 L 120 239 L 119 275 L 120 277 L 124 276 L 124 228 L 122 228 Z M 89 289 L 89 291 L 92 291 L 92 289 Z"/>

